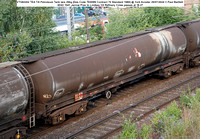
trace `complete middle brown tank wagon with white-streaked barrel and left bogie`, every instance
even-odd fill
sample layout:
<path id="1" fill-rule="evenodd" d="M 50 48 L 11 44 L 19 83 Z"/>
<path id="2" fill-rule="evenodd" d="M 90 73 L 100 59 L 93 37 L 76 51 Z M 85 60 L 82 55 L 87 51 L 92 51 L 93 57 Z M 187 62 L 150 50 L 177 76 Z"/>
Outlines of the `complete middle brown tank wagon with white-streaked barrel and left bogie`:
<path id="1" fill-rule="evenodd" d="M 62 122 L 65 114 L 86 110 L 85 98 L 115 88 L 139 70 L 184 53 L 186 38 L 178 27 L 170 25 L 151 32 L 91 43 L 77 51 L 63 49 L 22 59 L 35 85 L 37 117 L 47 117 L 46 121 L 53 124 Z"/>

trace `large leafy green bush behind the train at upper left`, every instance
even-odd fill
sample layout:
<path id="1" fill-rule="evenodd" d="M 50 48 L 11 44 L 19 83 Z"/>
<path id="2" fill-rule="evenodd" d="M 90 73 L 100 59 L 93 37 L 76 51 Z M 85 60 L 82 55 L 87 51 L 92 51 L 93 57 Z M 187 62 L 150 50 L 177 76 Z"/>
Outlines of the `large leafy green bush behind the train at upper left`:
<path id="1" fill-rule="evenodd" d="M 0 1 L 0 61 L 15 60 L 54 46 L 52 8 L 19 8 L 16 0 Z"/>

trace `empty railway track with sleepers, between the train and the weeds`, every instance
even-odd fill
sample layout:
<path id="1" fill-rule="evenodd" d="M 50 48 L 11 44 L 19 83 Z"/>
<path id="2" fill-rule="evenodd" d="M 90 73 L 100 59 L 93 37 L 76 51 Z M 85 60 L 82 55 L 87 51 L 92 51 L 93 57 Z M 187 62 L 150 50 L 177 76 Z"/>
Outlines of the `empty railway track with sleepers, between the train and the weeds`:
<path id="1" fill-rule="evenodd" d="M 167 105 L 168 103 L 178 99 L 182 93 L 181 88 L 188 86 L 190 82 L 195 82 L 200 79 L 200 74 L 184 80 L 172 87 L 164 89 L 152 96 L 149 96 L 135 104 L 130 105 L 122 110 L 116 111 L 112 115 L 109 115 L 73 134 L 70 134 L 66 139 L 93 139 L 93 138 L 108 138 L 109 136 L 119 132 L 122 129 L 123 117 L 129 118 L 133 113 L 132 120 L 141 120 L 156 109 Z M 195 84 L 191 90 L 199 87 L 200 84 Z"/>

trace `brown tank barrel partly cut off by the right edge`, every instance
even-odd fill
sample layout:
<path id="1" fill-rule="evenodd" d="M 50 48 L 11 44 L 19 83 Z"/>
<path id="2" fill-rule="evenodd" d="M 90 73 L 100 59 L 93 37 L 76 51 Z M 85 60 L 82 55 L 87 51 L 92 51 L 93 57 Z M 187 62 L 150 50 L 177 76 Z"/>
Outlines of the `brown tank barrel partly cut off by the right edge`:
<path id="1" fill-rule="evenodd" d="M 187 38 L 187 51 L 193 52 L 200 49 L 200 21 L 194 20 L 181 23 Z"/>

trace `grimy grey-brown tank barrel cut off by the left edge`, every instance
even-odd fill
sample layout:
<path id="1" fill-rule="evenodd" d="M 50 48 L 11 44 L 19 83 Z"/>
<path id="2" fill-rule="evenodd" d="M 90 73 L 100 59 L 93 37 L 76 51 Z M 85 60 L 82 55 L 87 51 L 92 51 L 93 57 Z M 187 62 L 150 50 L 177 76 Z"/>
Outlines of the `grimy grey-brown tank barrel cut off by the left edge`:
<path id="1" fill-rule="evenodd" d="M 0 69 L 0 120 L 24 111 L 28 96 L 26 81 L 17 69 Z"/>

